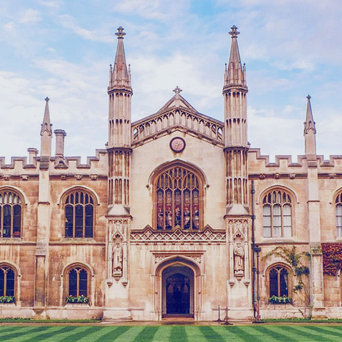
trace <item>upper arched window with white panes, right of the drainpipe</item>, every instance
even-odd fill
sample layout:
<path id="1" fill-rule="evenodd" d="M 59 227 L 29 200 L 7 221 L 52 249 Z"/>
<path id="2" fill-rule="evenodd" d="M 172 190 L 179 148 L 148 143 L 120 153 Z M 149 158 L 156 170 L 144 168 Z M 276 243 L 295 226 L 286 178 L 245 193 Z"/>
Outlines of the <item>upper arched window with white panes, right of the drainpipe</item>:
<path id="1" fill-rule="evenodd" d="M 291 196 L 282 189 L 269 191 L 263 198 L 264 237 L 292 235 Z"/>

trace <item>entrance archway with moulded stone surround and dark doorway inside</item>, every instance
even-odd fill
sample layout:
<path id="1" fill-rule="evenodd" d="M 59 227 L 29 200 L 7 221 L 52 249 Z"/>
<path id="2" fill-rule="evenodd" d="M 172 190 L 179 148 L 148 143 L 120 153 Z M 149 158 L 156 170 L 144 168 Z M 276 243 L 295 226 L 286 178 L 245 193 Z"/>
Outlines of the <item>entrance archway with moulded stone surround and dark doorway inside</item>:
<path id="1" fill-rule="evenodd" d="M 198 320 L 201 308 L 200 267 L 181 256 L 163 260 L 155 269 L 155 310 L 158 319 L 168 317 Z"/>

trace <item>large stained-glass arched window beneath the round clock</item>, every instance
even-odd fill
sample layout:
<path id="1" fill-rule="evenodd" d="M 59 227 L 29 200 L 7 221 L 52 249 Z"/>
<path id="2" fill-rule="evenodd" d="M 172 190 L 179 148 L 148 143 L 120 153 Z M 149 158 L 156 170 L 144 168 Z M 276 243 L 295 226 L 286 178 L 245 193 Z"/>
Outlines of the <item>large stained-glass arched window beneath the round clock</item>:
<path id="1" fill-rule="evenodd" d="M 157 229 L 200 229 L 203 182 L 196 172 L 181 165 L 163 169 L 155 176 Z"/>

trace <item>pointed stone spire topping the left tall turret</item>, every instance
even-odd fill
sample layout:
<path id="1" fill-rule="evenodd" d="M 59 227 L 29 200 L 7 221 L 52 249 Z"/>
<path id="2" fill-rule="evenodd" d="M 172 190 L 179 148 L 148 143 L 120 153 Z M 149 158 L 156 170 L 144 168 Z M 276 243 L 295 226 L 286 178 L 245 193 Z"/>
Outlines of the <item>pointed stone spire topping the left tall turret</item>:
<path id="1" fill-rule="evenodd" d="M 126 89 L 132 91 L 131 73 L 130 70 L 127 71 L 125 50 L 123 47 L 123 36 L 126 35 L 126 33 L 123 32 L 123 28 L 120 26 L 115 35 L 118 37 L 118 45 L 113 69 L 110 65 L 108 90 Z"/>

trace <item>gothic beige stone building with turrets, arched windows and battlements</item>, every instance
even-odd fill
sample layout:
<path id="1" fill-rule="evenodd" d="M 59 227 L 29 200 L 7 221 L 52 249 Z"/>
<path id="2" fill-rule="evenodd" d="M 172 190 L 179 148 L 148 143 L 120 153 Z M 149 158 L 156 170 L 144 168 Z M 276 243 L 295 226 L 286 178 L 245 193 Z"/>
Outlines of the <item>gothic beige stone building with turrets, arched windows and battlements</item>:
<path id="1" fill-rule="evenodd" d="M 64 156 L 66 133 L 55 130 L 52 156 L 45 99 L 40 156 L 29 148 L 28 160 L 0 158 L 1 317 L 205 321 L 218 318 L 218 305 L 231 319 L 259 308 L 264 318 L 341 317 L 342 156 L 316 155 L 310 96 L 297 162 L 270 163 L 250 147 L 238 33 L 229 32 L 223 121 L 177 87 L 131 122 L 122 27 L 105 149 L 81 164 Z M 269 255 L 293 246 L 311 254 L 302 275 Z"/>

